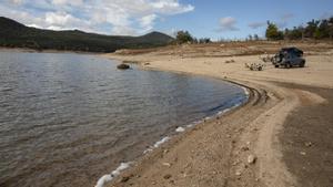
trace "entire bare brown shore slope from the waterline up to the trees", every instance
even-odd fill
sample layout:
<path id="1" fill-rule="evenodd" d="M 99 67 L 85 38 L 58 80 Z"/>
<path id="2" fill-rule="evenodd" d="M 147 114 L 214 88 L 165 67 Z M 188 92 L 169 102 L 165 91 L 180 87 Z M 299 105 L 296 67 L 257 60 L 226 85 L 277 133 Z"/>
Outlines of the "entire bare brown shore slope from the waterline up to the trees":
<path id="1" fill-rule="evenodd" d="M 270 63 L 264 63 L 263 71 L 245 69 L 245 63 L 261 63 L 263 54 L 289 45 L 304 50 L 305 67 L 274 69 Z M 330 117 L 332 111 L 323 110 L 332 108 L 332 43 L 182 45 L 141 51 L 123 50 L 105 56 L 134 61 L 144 69 L 233 81 L 249 86 L 251 93 L 250 101 L 244 106 L 173 138 L 138 160 L 110 186 L 286 187 L 333 184 L 333 147 L 330 145 L 333 141 Z M 312 114 L 309 113 L 309 107 L 323 111 Z M 306 137 L 302 139 L 294 135 L 296 131 L 302 131 L 302 126 L 295 126 L 302 123 L 301 120 L 306 120 L 305 114 L 311 118 L 306 126 L 309 136 L 315 132 L 316 123 L 322 123 L 321 128 L 329 131 L 323 134 L 326 136 L 323 141 L 316 138 L 306 142 Z M 300 141 L 302 143 L 296 144 Z M 315 145 L 313 142 L 316 142 Z M 307 150 L 311 153 L 316 149 L 325 153 L 325 156 L 316 159 L 317 155 L 306 154 Z M 295 158 L 304 162 L 294 162 Z M 311 174 L 316 170 L 321 172 L 321 176 L 327 177 L 313 178 Z"/>

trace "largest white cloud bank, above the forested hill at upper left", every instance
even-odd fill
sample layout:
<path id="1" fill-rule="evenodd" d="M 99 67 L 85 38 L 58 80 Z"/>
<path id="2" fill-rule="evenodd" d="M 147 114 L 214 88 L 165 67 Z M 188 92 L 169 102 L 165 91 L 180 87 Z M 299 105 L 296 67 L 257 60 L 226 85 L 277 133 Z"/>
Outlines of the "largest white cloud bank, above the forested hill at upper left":
<path id="1" fill-rule="evenodd" d="M 193 11 L 179 0 L 4 0 L 0 12 L 28 25 L 80 29 L 108 34 L 142 34 L 160 19 Z"/>

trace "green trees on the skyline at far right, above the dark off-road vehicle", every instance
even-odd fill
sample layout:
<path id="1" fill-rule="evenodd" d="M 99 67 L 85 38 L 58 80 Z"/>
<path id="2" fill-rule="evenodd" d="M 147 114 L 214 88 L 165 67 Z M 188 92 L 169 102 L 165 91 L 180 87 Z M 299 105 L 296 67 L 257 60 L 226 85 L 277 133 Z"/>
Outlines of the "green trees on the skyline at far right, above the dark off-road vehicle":
<path id="1" fill-rule="evenodd" d="M 294 27 L 293 29 L 285 29 L 283 32 L 279 31 L 274 23 L 268 22 L 266 39 L 268 40 L 301 40 L 301 39 L 316 39 L 324 40 L 333 37 L 333 17 L 323 20 L 312 20 L 305 27 Z"/>

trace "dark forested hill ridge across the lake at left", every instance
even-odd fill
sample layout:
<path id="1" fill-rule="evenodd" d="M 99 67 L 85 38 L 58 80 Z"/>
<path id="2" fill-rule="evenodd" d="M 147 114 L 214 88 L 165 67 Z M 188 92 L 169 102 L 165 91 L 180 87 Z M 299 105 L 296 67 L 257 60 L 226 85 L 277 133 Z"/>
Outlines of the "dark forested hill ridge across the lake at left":
<path id="1" fill-rule="evenodd" d="M 87 33 L 79 30 L 43 30 L 26 27 L 4 17 L 0 17 L 0 46 L 88 52 L 154 48 L 167 45 L 174 40 L 160 32 L 151 32 L 142 37 L 120 37 Z"/>

